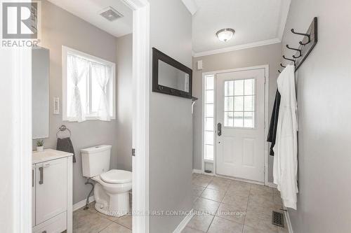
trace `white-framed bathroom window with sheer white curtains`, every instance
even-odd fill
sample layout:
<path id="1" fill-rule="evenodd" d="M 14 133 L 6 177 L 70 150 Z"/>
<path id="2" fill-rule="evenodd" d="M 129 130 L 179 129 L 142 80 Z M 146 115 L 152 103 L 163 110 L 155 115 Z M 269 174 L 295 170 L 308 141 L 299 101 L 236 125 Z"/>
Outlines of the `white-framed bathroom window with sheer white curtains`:
<path id="1" fill-rule="evenodd" d="M 62 118 L 111 120 L 115 118 L 116 64 L 62 46 Z"/>

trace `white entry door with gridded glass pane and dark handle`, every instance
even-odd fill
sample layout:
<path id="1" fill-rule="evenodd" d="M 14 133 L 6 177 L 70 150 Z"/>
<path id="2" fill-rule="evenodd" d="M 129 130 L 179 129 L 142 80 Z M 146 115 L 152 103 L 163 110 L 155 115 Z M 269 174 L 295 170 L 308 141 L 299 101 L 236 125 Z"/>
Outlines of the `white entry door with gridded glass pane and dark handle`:
<path id="1" fill-rule="evenodd" d="M 265 69 L 216 76 L 216 173 L 265 180 Z"/>

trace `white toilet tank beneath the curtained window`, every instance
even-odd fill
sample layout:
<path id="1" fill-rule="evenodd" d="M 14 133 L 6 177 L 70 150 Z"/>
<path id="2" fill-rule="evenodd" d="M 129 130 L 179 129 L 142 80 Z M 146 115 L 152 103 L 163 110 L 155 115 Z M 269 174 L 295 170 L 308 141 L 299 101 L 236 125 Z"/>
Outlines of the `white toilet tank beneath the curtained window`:
<path id="1" fill-rule="evenodd" d="M 101 145 L 81 149 L 83 176 L 91 178 L 110 170 L 112 146 Z"/>

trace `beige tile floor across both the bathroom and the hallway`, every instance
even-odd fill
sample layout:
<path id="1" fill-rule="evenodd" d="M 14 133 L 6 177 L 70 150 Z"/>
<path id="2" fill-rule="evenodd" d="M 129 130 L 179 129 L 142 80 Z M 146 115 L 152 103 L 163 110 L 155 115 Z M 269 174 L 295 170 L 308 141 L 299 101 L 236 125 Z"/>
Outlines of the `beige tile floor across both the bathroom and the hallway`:
<path id="1" fill-rule="evenodd" d="M 282 208 L 279 191 L 225 178 L 193 174 L 194 211 L 183 233 L 287 233 L 272 225 L 272 211 Z M 74 233 L 131 233 L 131 215 L 115 218 L 89 209 L 73 213 Z M 164 232 L 157 232 L 164 233 Z"/>

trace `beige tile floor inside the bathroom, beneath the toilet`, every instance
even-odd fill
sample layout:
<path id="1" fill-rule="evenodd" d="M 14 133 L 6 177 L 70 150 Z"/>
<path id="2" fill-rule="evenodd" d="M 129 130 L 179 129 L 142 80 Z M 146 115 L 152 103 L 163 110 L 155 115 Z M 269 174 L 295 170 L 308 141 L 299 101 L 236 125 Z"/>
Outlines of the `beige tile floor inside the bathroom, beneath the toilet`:
<path id="1" fill-rule="evenodd" d="M 73 212 L 74 233 L 131 233 L 131 215 L 116 218 L 99 213 L 94 208 L 95 202 L 89 204 L 89 209 L 83 208 Z"/>

